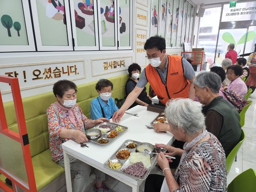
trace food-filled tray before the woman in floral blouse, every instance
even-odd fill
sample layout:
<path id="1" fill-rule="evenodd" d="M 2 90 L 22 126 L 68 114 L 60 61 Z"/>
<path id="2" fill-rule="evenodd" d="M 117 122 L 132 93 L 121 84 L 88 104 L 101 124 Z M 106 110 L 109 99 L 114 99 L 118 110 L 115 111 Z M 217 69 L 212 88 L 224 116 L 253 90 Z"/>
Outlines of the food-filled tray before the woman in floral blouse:
<path id="1" fill-rule="evenodd" d="M 107 145 L 127 132 L 128 127 L 116 123 L 103 122 L 93 128 L 85 130 L 87 139 L 98 145 Z"/>

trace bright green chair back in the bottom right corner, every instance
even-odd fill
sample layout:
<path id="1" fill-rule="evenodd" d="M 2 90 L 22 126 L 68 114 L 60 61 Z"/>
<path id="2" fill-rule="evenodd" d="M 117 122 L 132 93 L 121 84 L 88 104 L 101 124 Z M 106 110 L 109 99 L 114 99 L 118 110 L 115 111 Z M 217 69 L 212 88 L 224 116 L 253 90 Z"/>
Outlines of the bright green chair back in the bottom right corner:
<path id="1" fill-rule="evenodd" d="M 228 192 L 255 192 L 256 173 L 253 169 L 248 169 L 231 181 Z"/>

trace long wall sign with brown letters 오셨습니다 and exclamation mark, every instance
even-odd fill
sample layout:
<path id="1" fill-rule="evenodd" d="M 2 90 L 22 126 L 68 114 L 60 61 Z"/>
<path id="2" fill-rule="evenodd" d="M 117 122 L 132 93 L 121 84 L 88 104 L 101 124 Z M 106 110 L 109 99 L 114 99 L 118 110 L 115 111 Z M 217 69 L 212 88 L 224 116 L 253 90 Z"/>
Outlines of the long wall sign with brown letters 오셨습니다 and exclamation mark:
<path id="1" fill-rule="evenodd" d="M 85 79 L 84 60 L 1 65 L 0 75 L 17 77 L 21 90 L 27 90 L 53 85 L 58 80 Z M 0 82 L 0 91 L 9 93 L 11 86 Z"/>

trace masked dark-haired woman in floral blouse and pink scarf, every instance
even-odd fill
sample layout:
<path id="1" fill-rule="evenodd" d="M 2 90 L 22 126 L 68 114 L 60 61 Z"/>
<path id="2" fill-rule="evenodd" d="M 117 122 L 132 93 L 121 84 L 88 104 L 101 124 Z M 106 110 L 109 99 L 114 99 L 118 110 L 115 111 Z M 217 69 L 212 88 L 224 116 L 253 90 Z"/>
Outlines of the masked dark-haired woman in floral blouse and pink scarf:
<path id="1" fill-rule="evenodd" d="M 49 145 L 52 153 L 52 159 L 64 167 L 63 149 L 61 144 L 69 139 L 74 139 L 77 143 L 88 141 L 84 132 L 85 129 L 96 126 L 106 118 L 96 120 L 88 119 L 82 112 L 81 108 L 76 104 L 77 88 L 75 83 L 69 80 L 59 80 L 53 85 L 53 94 L 57 101 L 51 104 L 47 109 L 48 129 L 49 129 Z M 84 162 L 69 156 L 70 170 L 76 172 L 72 191 L 86 192 L 88 191 L 89 175 L 91 166 Z M 96 170 L 95 192 L 110 191 L 105 184 L 105 174 Z"/>

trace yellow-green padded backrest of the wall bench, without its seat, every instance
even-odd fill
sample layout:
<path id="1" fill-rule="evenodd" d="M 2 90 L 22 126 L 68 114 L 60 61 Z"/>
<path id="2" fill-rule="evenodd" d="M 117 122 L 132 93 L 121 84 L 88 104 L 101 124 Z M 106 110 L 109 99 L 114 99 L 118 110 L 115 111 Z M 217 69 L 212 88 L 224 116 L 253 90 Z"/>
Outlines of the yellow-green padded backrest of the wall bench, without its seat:
<path id="1" fill-rule="evenodd" d="M 113 98 L 120 99 L 126 96 L 125 84 L 128 80 L 128 75 L 119 75 L 108 80 L 113 83 Z M 77 86 L 77 103 L 88 118 L 90 117 L 91 100 L 98 96 L 95 90 L 96 82 Z M 46 109 L 55 101 L 56 97 L 52 91 L 22 99 L 32 157 L 49 148 Z M 13 102 L 4 103 L 4 107 L 8 128 L 18 132 Z"/>

